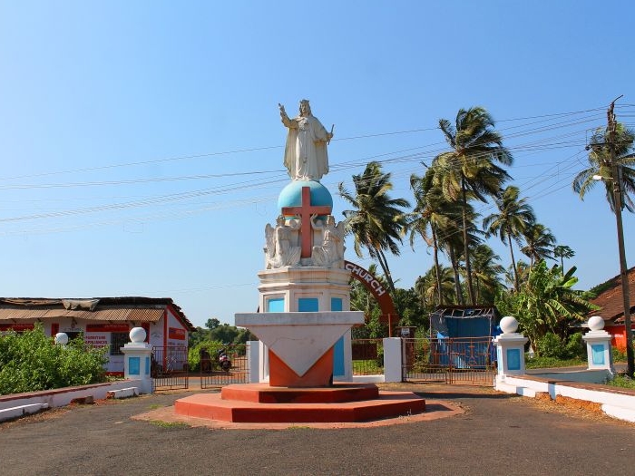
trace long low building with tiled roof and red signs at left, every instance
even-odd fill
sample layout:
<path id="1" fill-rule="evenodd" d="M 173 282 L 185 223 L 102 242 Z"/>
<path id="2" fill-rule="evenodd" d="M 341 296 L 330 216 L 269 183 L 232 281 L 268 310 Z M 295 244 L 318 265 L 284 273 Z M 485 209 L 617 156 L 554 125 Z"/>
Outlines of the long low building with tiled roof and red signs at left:
<path id="1" fill-rule="evenodd" d="M 65 333 L 87 344 L 110 346 L 107 371 L 123 373 L 122 345 L 132 327 L 143 327 L 146 342 L 157 347 L 184 347 L 190 320 L 170 297 L 42 298 L 0 297 L 0 333 L 44 327 L 46 335 Z"/>

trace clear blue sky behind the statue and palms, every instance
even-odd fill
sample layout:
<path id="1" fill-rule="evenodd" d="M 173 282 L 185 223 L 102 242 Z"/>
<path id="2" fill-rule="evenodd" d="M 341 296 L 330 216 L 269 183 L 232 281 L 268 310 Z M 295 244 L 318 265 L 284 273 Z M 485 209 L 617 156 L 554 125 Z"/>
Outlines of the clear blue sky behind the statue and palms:
<path id="1" fill-rule="evenodd" d="M 620 94 L 635 126 L 633 18 L 630 1 L 0 0 L 0 296 L 169 296 L 195 325 L 254 311 L 288 183 L 278 102 L 303 98 L 335 124 L 322 182 L 338 220 L 338 182 L 381 160 L 410 199 L 445 150 L 438 120 L 484 106 L 592 287 L 619 272 L 615 221 L 571 182 Z M 406 244 L 389 264 L 412 287 L 432 256 Z"/>

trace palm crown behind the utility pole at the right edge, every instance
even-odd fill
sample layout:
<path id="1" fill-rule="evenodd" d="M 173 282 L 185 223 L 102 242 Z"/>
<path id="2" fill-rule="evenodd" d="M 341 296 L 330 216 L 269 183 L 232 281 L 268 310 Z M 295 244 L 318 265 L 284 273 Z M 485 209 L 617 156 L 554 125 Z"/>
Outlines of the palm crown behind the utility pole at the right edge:
<path id="1" fill-rule="evenodd" d="M 604 189 L 606 192 L 606 200 L 609 202 L 611 210 L 615 211 L 615 201 L 613 196 L 613 186 L 615 180 L 620 180 L 621 204 L 622 207 L 628 209 L 631 213 L 635 211 L 635 205 L 630 194 L 635 192 L 635 154 L 633 151 L 633 142 L 635 141 L 635 131 L 627 129 L 618 122 L 616 126 L 616 139 L 614 141 L 615 159 L 617 161 L 617 170 L 619 177 L 613 177 L 613 168 L 611 162 L 611 149 L 608 140 L 608 131 L 596 129 L 591 136 L 589 142 L 589 168 L 582 170 L 573 179 L 573 191 L 580 194 L 580 198 L 584 199 L 584 195 L 598 183 L 600 180 L 593 177 L 603 179 Z"/>

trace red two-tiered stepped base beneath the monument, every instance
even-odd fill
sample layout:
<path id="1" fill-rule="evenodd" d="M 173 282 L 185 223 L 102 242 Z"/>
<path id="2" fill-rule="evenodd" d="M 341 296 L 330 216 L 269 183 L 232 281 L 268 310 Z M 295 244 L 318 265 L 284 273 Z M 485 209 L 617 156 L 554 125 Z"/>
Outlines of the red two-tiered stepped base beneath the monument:
<path id="1" fill-rule="evenodd" d="M 233 384 L 174 403 L 174 412 L 232 423 L 354 423 L 425 412 L 411 392 L 380 392 L 375 384 L 287 388 Z"/>

